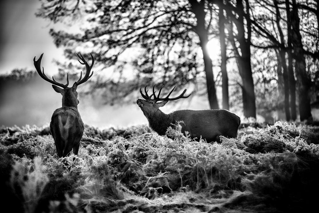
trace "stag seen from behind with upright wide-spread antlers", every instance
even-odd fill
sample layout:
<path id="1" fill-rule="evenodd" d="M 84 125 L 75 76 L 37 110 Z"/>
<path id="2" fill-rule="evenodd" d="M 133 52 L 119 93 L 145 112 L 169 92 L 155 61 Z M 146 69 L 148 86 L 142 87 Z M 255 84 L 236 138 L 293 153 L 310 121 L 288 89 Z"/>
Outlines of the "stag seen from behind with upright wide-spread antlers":
<path id="1" fill-rule="evenodd" d="M 82 65 L 85 65 L 86 73 L 82 79 L 82 72 L 81 72 L 79 80 L 74 82 L 72 87 L 68 87 L 69 74 L 67 74 L 67 77 L 66 77 L 67 83 L 61 84 L 56 82 L 56 80 L 54 80 L 53 77 L 52 77 L 52 80 L 49 79 L 44 74 L 43 67 L 41 71 L 42 56 L 43 56 L 43 53 L 41 54 L 40 58 L 37 61 L 35 60 L 35 57 L 33 58 L 35 69 L 37 70 L 41 78 L 52 83 L 53 89 L 57 93 L 61 93 L 62 95 L 62 107 L 59 109 L 56 109 L 53 112 L 51 122 L 50 122 L 50 130 L 56 145 L 57 154 L 59 157 L 68 156 L 73 148 L 73 153 L 75 155 L 78 155 L 80 141 L 82 138 L 82 134 L 84 132 L 84 124 L 78 112 L 79 101 L 78 101 L 78 92 L 76 90 L 78 85 L 83 84 L 93 75 L 93 71 L 91 75 L 90 75 L 90 72 L 94 64 L 94 58 L 91 54 L 92 64 L 88 65 L 84 57 L 81 54 L 80 54 L 81 57 L 78 55 L 78 57 L 81 59 L 82 62 L 80 60 L 78 61 Z M 62 87 L 63 89 L 60 87 Z"/>

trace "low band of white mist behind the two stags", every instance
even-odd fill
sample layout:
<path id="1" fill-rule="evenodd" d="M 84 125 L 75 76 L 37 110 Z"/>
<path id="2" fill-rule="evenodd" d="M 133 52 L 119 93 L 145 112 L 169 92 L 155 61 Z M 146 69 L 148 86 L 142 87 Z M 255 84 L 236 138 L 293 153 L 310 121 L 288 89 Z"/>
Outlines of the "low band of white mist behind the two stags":
<path id="1" fill-rule="evenodd" d="M 74 81 L 70 80 L 70 84 Z M 0 89 L 0 125 L 47 125 L 53 111 L 62 106 L 62 95 L 56 93 L 51 84 L 41 79 L 37 73 L 29 80 L 0 80 Z M 83 87 L 78 87 L 77 90 L 81 94 Z M 139 93 L 133 94 L 127 97 L 131 99 L 128 103 L 111 106 L 104 104 L 99 95 L 79 95 L 78 110 L 85 124 L 100 128 L 147 124 L 147 119 L 136 104 L 139 96 Z M 207 101 L 206 105 L 202 104 L 205 103 L 204 99 L 205 97 L 194 97 L 180 100 L 178 104 L 167 104 L 161 110 L 169 113 L 177 109 L 207 109 Z"/>

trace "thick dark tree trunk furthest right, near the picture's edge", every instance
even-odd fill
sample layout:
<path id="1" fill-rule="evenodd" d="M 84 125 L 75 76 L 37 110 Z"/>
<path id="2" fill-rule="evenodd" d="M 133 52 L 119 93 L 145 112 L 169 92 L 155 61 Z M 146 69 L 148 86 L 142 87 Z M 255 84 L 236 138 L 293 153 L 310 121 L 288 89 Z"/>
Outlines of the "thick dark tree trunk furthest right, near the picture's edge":
<path id="1" fill-rule="evenodd" d="M 310 108 L 310 84 L 311 80 L 306 71 L 306 60 L 301 42 L 299 29 L 299 16 L 296 0 L 293 0 L 293 8 L 291 12 L 292 36 L 291 42 L 293 45 L 293 57 L 295 59 L 295 71 L 297 77 L 298 96 L 299 96 L 299 114 L 300 121 L 311 118 Z"/>

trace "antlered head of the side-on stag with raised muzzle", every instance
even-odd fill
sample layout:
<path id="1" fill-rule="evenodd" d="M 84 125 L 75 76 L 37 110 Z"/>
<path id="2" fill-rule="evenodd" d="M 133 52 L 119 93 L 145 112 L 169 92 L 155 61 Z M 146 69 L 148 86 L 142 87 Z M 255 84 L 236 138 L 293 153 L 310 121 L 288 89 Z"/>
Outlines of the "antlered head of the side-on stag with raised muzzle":
<path id="1" fill-rule="evenodd" d="M 147 86 L 146 86 L 147 87 Z M 175 97 L 175 98 L 169 98 L 169 96 L 172 94 L 172 92 L 174 91 L 175 87 L 168 93 L 168 95 L 165 97 L 165 98 L 160 98 L 159 95 L 162 91 L 162 88 L 164 86 L 162 86 L 160 89 L 159 89 L 159 93 L 158 95 L 156 95 L 156 91 L 155 91 L 155 85 L 153 86 L 153 94 L 152 95 L 148 95 L 147 92 L 148 90 L 146 90 L 146 87 L 144 88 L 144 91 L 145 91 L 145 95 L 143 94 L 142 92 L 142 88 L 140 88 L 140 93 L 142 95 L 142 97 L 145 99 L 145 100 L 142 100 L 142 99 L 137 99 L 136 103 L 137 105 L 141 108 L 141 110 L 143 111 L 144 115 L 146 117 L 148 117 L 149 115 L 152 115 L 154 113 L 156 113 L 158 110 L 159 110 L 159 107 L 162 107 L 164 106 L 168 101 L 174 101 L 174 100 L 177 100 L 177 99 L 180 99 L 180 98 L 188 98 L 189 95 L 187 96 L 184 96 L 185 92 L 186 92 L 186 89 L 184 89 L 184 91 L 182 92 L 181 95 Z M 153 96 L 153 98 L 152 98 Z M 161 101 L 161 102 L 159 102 Z"/>

